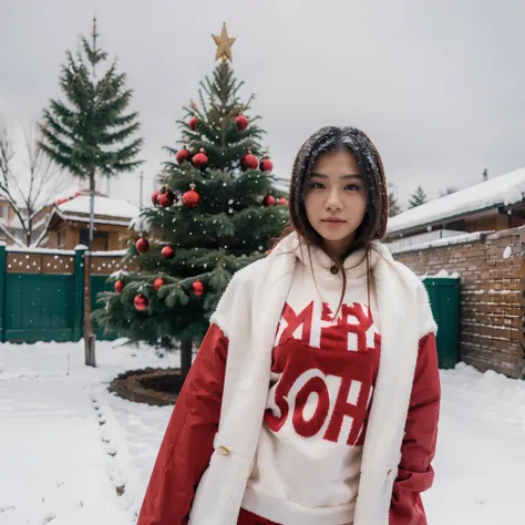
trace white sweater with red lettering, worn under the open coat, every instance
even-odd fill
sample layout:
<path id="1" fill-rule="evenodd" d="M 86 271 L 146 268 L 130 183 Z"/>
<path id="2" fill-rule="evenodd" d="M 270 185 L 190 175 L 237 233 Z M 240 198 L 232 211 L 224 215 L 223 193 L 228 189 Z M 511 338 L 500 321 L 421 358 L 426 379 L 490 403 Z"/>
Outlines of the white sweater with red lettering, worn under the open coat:
<path id="1" fill-rule="evenodd" d="M 312 248 L 316 288 L 308 253 L 298 255 L 243 507 L 285 525 L 349 524 L 379 368 L 379 316 L 372 292 L 368 306 L 363 251 L 344 261 L 347 290 L 336 320 L 340 274 Z"/>

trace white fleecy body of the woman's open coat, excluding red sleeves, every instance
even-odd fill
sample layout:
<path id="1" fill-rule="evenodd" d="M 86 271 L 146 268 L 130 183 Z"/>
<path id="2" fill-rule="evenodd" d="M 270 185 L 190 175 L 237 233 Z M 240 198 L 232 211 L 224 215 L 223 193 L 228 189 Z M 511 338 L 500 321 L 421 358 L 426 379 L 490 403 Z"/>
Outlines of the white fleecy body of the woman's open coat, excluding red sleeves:
<path id="1" fill-rule="evenodd" d="M 353 525 L 388 525 L 401 459 L 419 340 L 435 331 L 421 280 L 389 250 L 374 267 L 381 320 L 381 361 L 363 445 Z M 297 235 L 239 270 L 212 316 L 228 338 L 228 357 L 214 453 L 192 505 L 191 525 L 236 525 L 253 471 L 270 383 L 276 327 L 297 265 Z M 225 455 L 225 451 L 229 454 Z"/>

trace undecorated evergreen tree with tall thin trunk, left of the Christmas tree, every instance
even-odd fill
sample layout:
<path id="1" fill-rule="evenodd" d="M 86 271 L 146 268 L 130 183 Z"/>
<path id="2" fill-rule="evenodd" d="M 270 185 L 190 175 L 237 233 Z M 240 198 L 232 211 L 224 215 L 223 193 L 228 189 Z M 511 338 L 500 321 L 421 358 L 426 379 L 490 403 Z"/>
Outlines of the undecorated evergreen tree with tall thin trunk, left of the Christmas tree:
<path id="1" fill-rule="evenodd" d="M 126 75 L 117 73 L 113 62 L 97 80 L 96 68 L 107 53 L 96 44 L 96 20 L 92 37 L 92 43 L 81 39 L 85 58 L 66 52 L 60 75 L 65 100 L 51 100 L 44 110 L 39 146 L 60 167 L 89 179 L 93 195 L 96 173 L 112 177 L 142 164 L 135 158 L 143 141 L 133 137 L 138 114 L 126 113 L 133 93 L 125 87 Z M 90 245 L 92 230 L 90 224 Z"/>

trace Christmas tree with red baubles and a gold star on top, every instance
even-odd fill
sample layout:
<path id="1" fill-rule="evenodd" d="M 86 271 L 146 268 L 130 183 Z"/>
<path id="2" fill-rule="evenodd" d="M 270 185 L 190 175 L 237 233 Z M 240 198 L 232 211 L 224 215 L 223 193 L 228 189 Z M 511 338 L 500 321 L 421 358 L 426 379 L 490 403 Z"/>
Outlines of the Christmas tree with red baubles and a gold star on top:
<path id="1" fill-rule="evenodd" d="M 260 117 L 249 115 L 254 95 L 241 101 L 244 83 L 227 62 L 235 39 L 226 27 L 214 39 L 222 62 L 200 82 L 199 105 L 184 107 L 181 147 L 165 148 L 161 188 L 141 216 L 148 233 L 128 254 L 140 254 L 141 274 L 115 276 L 115 292 L 101 295 L 106 306 L 93 316 L 130 342 L 179 342 L 183 378 L 233 274 L 264 257 L 289 220 Z"/>

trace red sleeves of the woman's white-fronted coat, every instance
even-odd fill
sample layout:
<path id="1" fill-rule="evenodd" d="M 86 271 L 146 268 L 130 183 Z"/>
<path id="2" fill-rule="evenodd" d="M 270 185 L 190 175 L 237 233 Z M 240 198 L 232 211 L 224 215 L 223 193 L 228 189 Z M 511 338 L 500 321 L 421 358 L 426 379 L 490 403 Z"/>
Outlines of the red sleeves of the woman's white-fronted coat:
<path id="1" fill-rule="evenodd" d="M 228 341 L 212 325 L 174 408 L 147 486 L 137 525 L 183 525 L 208 466 L 218 429 Z M 435 337 L 420 341 L 401 462 L 393 485 L 389 525 L 426 525 L 420 493 L 434 472 L 441 388 Z M 271 524 L 241 513 L 241 525 Z"/>

